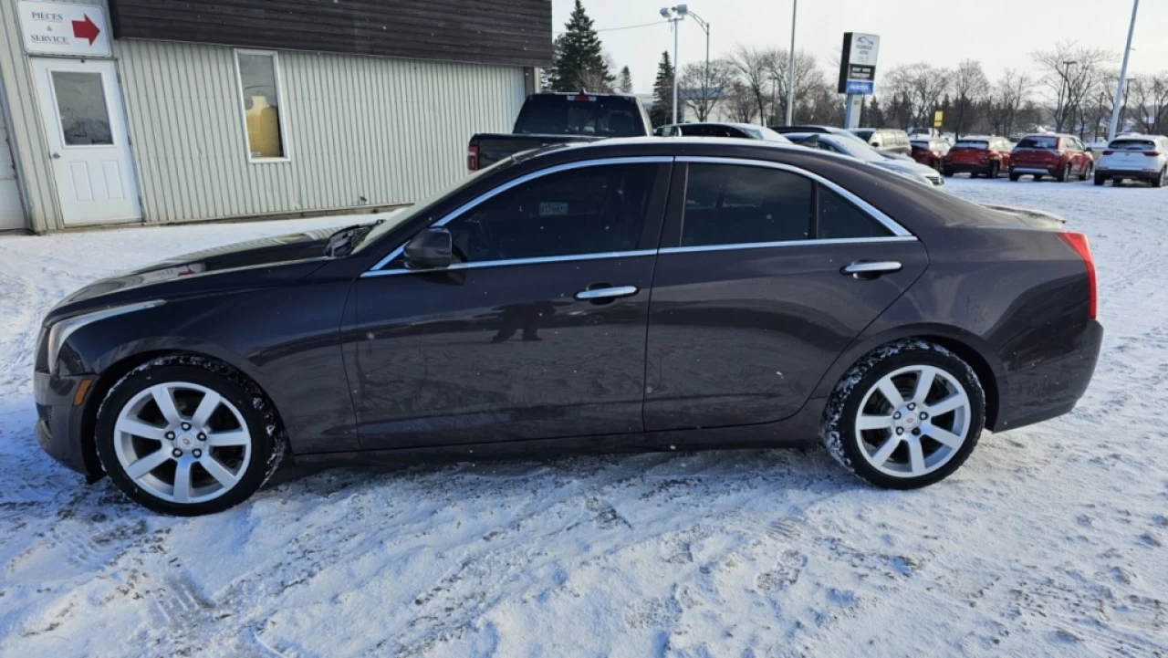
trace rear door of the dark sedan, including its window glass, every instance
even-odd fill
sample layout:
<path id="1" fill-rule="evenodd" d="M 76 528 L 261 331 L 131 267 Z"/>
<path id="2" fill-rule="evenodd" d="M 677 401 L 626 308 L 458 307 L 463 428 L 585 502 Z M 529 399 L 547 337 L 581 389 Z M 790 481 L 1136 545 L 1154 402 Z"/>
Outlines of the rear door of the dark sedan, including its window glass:
<path id="1" fill-rule="evenodd" d="M 649 304 L 646 430 L 791 416 L 926 265 L 915 236 L 814 174 L 679 158 Z"/>

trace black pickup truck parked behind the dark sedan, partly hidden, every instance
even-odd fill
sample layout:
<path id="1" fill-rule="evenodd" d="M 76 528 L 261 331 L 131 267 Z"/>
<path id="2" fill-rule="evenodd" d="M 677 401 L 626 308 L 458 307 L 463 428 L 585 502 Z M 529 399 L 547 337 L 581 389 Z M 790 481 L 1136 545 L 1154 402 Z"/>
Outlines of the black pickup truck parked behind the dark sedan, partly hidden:
<path id="1" fill-rule="evenodd" d="M 466 168 L 477 172 L 515 153 L 549 144 L 652 134 L 653 124 L 635 96 L 533 93 L 523 102 L 515 132 L 471 138 Z"/>

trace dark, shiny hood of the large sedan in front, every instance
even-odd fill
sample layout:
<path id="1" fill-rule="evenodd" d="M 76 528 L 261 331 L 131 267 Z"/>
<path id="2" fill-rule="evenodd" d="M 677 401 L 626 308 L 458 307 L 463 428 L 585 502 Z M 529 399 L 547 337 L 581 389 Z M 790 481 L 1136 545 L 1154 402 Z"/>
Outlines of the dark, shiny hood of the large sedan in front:
<path id="1" fill-rule="evenodd" d="M 303 277 L 327 259 L 325 245 L 335 230 L 327 228 L 225 244 L 106 277 L 67 297 L 47 320 L 89 307 L 210 293 Z"/>

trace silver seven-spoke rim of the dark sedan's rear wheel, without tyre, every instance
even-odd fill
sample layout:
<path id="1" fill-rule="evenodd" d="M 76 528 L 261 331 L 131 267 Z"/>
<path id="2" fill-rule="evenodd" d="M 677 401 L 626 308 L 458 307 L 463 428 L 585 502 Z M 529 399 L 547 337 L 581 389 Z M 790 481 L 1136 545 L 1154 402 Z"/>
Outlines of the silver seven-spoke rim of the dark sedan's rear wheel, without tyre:
<path id="1" fill-rule="evenodd" d="M 965 445 L 973 414 L 965 387 L 933 366 L 908 366 L 881 378 L 856 413 L 864 459 L 895 478 L 916 478 L 947 464 Z"/>

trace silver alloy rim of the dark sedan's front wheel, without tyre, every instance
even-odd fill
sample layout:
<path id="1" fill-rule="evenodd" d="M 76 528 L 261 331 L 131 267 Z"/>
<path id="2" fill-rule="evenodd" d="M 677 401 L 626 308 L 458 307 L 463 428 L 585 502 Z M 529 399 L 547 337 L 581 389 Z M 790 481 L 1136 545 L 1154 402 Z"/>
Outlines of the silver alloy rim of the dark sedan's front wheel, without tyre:
<path id="1" fill-rule="evenodd" d="M 251 462 L 251 434 L 234 404 L 197 383 L 142 389 L 113 425 L 118 463 L 161 500 L 214 500 L 238 484 Z"/>

